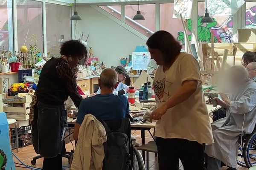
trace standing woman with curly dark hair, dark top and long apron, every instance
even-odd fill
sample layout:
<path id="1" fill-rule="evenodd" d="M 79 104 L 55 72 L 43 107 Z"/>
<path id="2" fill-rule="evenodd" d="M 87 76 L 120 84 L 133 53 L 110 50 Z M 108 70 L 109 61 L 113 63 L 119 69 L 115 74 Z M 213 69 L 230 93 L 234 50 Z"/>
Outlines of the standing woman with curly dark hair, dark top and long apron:
<path id="1" fill-rule="evenodd" d="M 43 170 L 62 170 L 65 153 L 64 133 L 68 96 L 79 107 L 82 97 L 76 87 L 75 69 L 79 61 L 87 59 L 86 47 L 77 40 L 64 42 L 60 58 L 52 58 L 42 68 L 32 109 L 32 140 L 36 153 L 44 157 Z"/>

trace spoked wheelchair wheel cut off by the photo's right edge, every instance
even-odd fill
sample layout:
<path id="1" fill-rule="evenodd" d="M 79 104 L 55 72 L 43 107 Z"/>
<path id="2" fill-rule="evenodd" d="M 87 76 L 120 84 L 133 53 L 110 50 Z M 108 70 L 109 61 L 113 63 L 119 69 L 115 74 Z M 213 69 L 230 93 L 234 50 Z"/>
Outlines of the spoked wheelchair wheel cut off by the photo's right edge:
<path id="1" fill-rule="evenodd" d="M 256 165 L 256 130 L 254 130 L 245 141 L 244 161 L 247 168 Z"/>

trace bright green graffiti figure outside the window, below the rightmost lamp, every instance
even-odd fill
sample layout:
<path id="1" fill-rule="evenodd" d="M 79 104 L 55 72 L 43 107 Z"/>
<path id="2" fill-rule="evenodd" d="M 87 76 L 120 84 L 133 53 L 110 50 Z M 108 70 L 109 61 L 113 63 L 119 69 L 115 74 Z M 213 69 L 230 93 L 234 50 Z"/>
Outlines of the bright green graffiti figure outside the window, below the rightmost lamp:
<path id="1" fill-rule="evenodd" d="M 212 18 L 213 23 L 207 23 L 206 26 L 202 26 L 204 23 L 201 23 L 201 20 L 203 17 L 198 16 L 198 41 L 202 42 L 211 42 L 211 30 L 210 28 L 215 27 L 217 25 L 217 22 L 215 18 Z M 190 31 L 188 37 L 189 41 L 191 41 L 191 32 L 192 32 L 192 20 L 187 21 L 188 31 Z M 183 31 L 178 32 L 178 41 L 181 41 L 182 44 L 185 44 L 185 35 Z M 214 37 L 214 42 L 218 42 L 218 38 Z"/>

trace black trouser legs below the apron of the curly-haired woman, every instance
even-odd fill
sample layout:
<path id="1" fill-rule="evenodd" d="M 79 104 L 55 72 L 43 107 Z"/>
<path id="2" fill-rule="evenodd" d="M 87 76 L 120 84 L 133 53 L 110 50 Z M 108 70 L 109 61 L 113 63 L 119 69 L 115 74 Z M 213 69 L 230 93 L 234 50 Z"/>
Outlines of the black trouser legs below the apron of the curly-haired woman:
<path id="1" fill-rule="evenodd" d="M 62 170 L 61 154 L 58 154 L 54 158 L 44 158 L 43 170 Z"/>

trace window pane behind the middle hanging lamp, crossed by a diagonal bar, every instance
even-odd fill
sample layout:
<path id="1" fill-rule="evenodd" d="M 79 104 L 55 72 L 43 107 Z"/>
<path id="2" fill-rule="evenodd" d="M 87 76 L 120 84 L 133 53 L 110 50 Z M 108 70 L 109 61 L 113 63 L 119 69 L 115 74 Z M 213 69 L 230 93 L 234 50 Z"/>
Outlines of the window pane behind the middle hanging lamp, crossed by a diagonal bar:
<path id="1" fill-rule="evenodd" d="M 136 29 L 147 37 L 150 37 L 156 31 L 156 8 L 155 4 L 140 5 L 141 14 L 145 20 L 132 20 L 137 13 L 138 5 L 125 6 L 125 23 Z"/>

